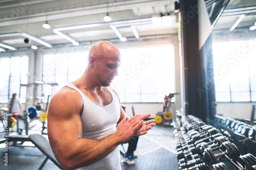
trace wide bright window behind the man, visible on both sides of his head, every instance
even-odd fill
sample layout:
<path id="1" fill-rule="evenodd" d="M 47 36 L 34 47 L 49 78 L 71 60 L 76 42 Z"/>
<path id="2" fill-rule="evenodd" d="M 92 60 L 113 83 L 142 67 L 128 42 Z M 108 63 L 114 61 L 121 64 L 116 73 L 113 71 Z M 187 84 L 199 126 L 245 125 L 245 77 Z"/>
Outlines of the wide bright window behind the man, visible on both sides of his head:
<path id="1" fill-rule="evenodd" d="M 111 84 L 122 103 L 161 102 L 164 95 L 175 92 L 174 47 L 156 46 L 121 49 L 118 77 Z M 88 52 L 44 55 L 45 95 L 51 95 L 68 82 L 79 78 L 87 67 Z"/>

